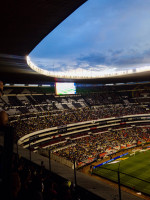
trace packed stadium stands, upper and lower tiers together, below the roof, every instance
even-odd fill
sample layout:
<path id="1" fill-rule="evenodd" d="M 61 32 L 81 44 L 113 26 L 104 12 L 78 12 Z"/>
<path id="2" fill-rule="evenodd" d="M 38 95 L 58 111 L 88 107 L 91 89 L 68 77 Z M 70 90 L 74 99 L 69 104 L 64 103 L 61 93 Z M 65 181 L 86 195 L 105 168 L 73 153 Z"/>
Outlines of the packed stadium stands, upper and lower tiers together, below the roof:
<path id="1" fill-rule="evenodd" d="M 77 169 L 150 143 L 150 84 L 5 86 L 0 105 L 23 148 Z"/>

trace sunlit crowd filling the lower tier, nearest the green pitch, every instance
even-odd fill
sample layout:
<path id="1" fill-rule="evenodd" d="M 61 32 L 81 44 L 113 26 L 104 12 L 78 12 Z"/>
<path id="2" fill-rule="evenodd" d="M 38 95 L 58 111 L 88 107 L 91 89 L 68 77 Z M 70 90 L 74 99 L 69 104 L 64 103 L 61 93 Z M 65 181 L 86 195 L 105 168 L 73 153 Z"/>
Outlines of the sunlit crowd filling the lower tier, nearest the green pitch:
<path id="1" fill-rule="evenodd" d="M 55 154 L 72 162 L 75 159 L 78 165 L 80 162 L 86 162 L 89 158 L 95 159 L 103 153 L 111 154 L 128 147 L 128 145 L 133 146 L 147 141 L 150 141 L 150 129 L 133 127 L 73 140 L 72 144 L 74 145 L 55 150 Z"/>

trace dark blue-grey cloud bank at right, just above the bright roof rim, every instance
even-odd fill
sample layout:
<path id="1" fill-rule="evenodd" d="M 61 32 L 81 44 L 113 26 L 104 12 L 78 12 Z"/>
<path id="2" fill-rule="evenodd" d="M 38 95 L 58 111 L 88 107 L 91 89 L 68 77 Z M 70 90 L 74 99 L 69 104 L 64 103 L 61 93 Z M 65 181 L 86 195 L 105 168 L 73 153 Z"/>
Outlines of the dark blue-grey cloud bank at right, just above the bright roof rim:
<path id="1" fill-rule="evenodd" d="M 150 49 L 139 52 L 134 49 L 119 49 L 109 50 L 108 52 L 92 53 L 86 56 L 82 56 L 77 59 L 80 62 L 86 63 L 88 66 L 97 68 L 97 66 L 107 66 L 122 69 L 128 69 L 133 67 L 139 67 L 141 65 L 148 65 L 150 63 Z"/>

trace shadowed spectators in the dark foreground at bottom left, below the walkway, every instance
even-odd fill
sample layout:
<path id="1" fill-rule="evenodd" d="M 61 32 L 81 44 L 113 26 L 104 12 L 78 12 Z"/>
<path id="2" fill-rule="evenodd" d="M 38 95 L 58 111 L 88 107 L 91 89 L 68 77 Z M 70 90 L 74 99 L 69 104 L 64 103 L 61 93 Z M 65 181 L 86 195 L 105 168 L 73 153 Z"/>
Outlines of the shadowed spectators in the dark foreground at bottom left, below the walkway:
<path id="1" fill-rule="evenodd" d="M 38 166 L 13 155 L 9 196 L 12 200 L 78 200 L 80 194 L 73 183 L 46 170 L 43 161 Z"/>

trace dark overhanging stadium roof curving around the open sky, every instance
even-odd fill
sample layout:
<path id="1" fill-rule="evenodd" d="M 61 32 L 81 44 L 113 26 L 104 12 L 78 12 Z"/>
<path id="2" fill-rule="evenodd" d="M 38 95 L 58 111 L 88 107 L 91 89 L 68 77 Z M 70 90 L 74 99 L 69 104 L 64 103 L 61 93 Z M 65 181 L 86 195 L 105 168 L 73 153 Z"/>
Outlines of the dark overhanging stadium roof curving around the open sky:
<path id="1" fill-rule="evenodd" d="M 5 83 L 75 81 L 80 83 L 125 83 L 149 81 L 150 72 L 102 78 L 65 79 L 48 77 L 26 62 L 35 46 L 86 0 L 5 0 L 0 12 L 0 79 Z"/>

